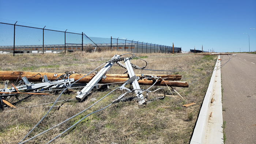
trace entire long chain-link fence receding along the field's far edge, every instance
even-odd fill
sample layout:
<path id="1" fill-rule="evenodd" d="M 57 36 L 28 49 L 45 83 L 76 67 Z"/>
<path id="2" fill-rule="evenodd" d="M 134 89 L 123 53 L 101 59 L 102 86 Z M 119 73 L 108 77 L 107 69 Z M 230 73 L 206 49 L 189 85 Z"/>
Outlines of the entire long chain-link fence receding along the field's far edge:
<path id="1" fill-rule="evenodd" d="M 67 30 L 24 26 L 0 22 L 0 54 L 13 53 L 66 53 L 74 51 L 123 50 L 131 53 L 172 53 L 172 46 L 130 41 L 118 38 L 87 37 Z M 181 48 L 174 47 L 174 53 Z"/>

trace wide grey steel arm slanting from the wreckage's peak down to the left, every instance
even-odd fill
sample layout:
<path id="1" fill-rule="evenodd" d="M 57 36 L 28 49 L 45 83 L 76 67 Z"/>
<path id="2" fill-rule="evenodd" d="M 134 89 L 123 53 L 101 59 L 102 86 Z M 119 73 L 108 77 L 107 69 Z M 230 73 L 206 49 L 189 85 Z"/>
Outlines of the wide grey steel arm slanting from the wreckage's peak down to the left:
<path id="1" fill-rule="evenodd" d="M 119 55 L 114 55 L 111 60 L 114 60 L 116 58 L 119 58 Z M 114 65 L 114 62 L 107 62 L 106 65 L 93 77 L 93 79 L 90 80 L 90 82 L 86 85 L 86 87 L 83 88 L 82 91 L 79 92 L 78 95 L 76 95 L 76 99 L 78 101 L 83 101 L 83 99 L 90 93 L 90 91 L 94 88 L 95 84 L 97 84 L 108 72 L 108 70 Z"/>

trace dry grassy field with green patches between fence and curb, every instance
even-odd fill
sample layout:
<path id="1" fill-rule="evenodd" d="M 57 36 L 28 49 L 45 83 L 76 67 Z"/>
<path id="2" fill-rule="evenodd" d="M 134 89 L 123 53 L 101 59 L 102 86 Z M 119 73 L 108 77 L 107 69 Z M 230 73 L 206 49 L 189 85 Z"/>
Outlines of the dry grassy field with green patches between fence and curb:
<path id="1" fill-rule="evenodd" d="M 89 73 L 99 65 L 110 60 L 114 54 L 124 52 L 74 52 L 51 54 L 17 54 L 15 57 L 8 54 L 0 55 L 0 71 L 30 71 L 30 72 L 54 72 L 64 73 L 65 71 L 75 71 L 78 73 Z M 165 99 L 153 101 L 143 108 L 138 107 L 136 101 L 119 102 L 111 105 L 107 109 L 92 114 L 81 123 L 53 141 L 56 144 L 81 143 L 81 144 L 188 144 L 195 126 L 200 106 L 202 105 L 211 74 L 217 56 L 201 56 L 193 54 L 165 54 L 165 53 L 139 53 L 136 56 L 147 61 L 146 69 L 185 69 L 180 72 L 145 71 L 135 69 L 136 74 L 175 74 L 182 75 L 181 81 L 189 84 L 188 88 L 176 88 L 184 97 L 182 99 L 175 92 L 173 95 L 167 87 L 154 86 L 153 89 L 163 87 L 168 95 Z M 128 56 L 128 55 L 125 55 Z M 133 64 L 143 66 L 145 62 L 135 58 L 131 60 Z M 98 69 L 97 71 L 99 71 Z M 122 74 L 125 69 L 114 65 L 108 73 Z M 208 75 L 208 76 L 206 76 Z M 202 77 L 206 76 L 204 79 Z M 198 80 L 198 81 L 197 81 Z M 193 83 L 195 82 L 195 83 Z M 11 82 L 15 83 L 15 82 Z M 9 83 L 9 86 L 10 83 Z M 93 90 L 92 94 L 84 102 L 76 100 L 57 103 L 56 107 L 50 111 L 45 120 L 29 135 L 35 136 L 52 126 L 59 124 L 67 118 L 86 109 L 91 104 L 108 94 L 117 85 L 110 85 L 105 91 Z M 146 89 L 150 86 L 141 86 Z M 4 88 L 3 81 L 0 81 L 0 88 Z M 128 87 L 129 88 L 129 87 Z M 71 93 L 63 94 L 59 101 L 74 99 L 76 91 L 71 89 Z M 61 91 L 59 91 L 60 93 Z M 123 91 L 115 91 L 94 107 L 87 110 L 71 121 L 60 125 L 53 130 L 30 141 L 29 143 L 47 143 L 55 136 L 63 132 L 69 126 L 75 124 L 85 115 L 101 109 L 116 99 Z M 25 101 L 16 104 L 17 109 L 5 108 L 0 111 L 0 144 L 18 143 L 35 124 L 49 110 L 50 104 L 24 108 L 27 106 L 42 103 L 54 102 L 59 96 L 53 93 L 52 96 L 31 96 Z M 18 95 L 7 98 L 9 102 L 15 102 L 26 95 Z M 96 100 L 93 100 L 95 98 Z M 198 106 L 192 109 L 182 105 L 195 102 Z"/>

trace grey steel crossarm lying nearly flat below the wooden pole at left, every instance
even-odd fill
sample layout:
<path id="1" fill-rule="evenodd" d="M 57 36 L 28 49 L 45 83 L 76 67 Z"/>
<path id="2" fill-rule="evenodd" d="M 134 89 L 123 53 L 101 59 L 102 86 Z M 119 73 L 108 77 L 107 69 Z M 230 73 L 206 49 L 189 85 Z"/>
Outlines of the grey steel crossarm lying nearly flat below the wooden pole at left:
<path id="1" fill-rule="evenodd" d="M 52 86 L 52 88 L 61 88 L 65 87 L 67 83 L 74 82 L 75 80 L 72 79 L 64 79 L 64 80 L 58 80 L 54 82 L 44 82 L 44 83 L 37 83 L 37 84 L 31 84 L 31 86 L 23 85 L 16 87 L 18 90 L 28 90 L 28 89 L 38 89 L 38 88 L 47 88 Z M 14 87 L 11 88 L 4 88 L 0 89 L 0 92 L 14 92 L 16 91 Z"/>

